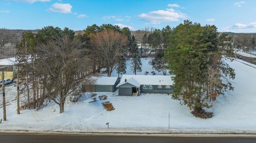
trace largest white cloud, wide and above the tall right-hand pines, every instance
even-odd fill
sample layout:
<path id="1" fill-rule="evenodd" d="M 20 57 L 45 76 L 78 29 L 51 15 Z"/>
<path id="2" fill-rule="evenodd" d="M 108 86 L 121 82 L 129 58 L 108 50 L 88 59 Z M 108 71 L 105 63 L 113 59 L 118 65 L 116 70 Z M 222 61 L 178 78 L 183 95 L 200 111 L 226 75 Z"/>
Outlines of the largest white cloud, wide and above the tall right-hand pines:
<path id="1" fill-rule="evenodd" d="M 160 24 L 161 22 L 178 22 L 180 18 L 186 19 L 187 15 L 170 8 L 166 10 L 152 11 L 147 14 L 140 14 L 138 17 L 151 24 Z"/>

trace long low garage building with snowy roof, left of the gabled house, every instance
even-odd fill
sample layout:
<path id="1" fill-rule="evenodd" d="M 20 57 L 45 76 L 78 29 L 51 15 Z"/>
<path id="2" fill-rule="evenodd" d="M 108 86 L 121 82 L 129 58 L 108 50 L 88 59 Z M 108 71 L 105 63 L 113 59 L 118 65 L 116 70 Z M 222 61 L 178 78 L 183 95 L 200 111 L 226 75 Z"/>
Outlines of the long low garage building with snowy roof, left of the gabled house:
<path id="1" fill-rule="evenodd" d="M 82 84 L 83 92 L 115 92 L 117 89 L 117 85 L 120 82 L 120 78 L 118 77 L 108 77 L 108 76 L 100 76 L 100 77 L 92 77 L 96 78 L 95 84 L 85 85 Z"/>

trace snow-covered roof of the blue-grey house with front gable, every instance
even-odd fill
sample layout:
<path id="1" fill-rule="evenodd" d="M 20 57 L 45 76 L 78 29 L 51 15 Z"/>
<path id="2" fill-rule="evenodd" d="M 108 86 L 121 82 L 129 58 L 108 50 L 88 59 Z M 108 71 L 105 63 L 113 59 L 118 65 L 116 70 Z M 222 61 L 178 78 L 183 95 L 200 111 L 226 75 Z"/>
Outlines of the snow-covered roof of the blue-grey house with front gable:
<path id="1" fill-rule="evenodd" d="M 134 78 L 141 85 L 173 85 L 172 76 L 167 75 L 126 75 L 122 76 L 120 83 L 125 79 Z M 119 85 L 119 84 L 118 84 Z"/>

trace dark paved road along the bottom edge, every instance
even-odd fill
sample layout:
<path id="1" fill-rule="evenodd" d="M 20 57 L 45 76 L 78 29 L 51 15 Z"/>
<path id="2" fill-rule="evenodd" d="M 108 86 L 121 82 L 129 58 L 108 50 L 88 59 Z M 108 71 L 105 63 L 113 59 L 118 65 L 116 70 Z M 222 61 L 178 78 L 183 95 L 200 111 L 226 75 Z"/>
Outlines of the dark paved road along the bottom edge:
<path id="1" fill-rule="evenodd" d="M 0 143 L 256 143 L 256 137 L 0 134 Z"/>

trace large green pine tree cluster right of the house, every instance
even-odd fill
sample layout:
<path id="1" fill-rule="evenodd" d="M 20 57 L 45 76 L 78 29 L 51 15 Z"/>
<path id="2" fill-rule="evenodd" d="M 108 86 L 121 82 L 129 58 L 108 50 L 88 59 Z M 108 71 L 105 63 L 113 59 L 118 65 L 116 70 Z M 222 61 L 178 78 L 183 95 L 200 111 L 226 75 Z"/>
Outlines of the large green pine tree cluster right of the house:
<path id="1" fill-rule="evenodd" d="M 165 58 L 171 74 L 175 74 L 172 98 L 187 104 L 192 114 L 200 118 L 210 118 L 210 102 L 233 90 L 229 78 L 234 79 L 234 70 L 222 62 L 232 56 L 230 37 L 218 37 L 215 26 L 201 26 L 186 20 L 170 34 Z"/>

